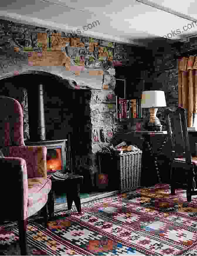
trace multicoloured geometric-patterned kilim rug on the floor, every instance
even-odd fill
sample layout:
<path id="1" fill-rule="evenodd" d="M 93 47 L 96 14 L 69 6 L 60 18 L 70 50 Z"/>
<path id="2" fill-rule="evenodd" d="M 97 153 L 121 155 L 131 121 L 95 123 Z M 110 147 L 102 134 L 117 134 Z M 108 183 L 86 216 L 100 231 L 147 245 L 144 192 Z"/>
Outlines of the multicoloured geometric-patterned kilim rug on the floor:
<path id="1" fill-rule="evenodd" d="M 12 224 L 12 229 L 11 229 Z M 170 195 L 156 184 L 56 212 L 42 225 L 30 219 L 29 255 L 197 255 L 197 196 Z M 0 226 L 0 255 L 20 255 L 16 223 Z"/>

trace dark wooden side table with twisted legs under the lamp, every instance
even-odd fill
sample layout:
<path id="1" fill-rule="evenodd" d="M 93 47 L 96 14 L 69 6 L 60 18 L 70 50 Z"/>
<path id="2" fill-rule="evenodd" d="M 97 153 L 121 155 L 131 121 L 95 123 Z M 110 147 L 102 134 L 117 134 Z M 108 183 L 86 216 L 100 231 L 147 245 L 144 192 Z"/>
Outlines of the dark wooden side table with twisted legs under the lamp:
<path id="1" fill-rule="evenodd" d="M 157 180 L 159 181 L 159 183 L 161 183 L 161 178 L 160 178 L 160 173 L 159 173 L 159 167 L 157 164 L 157 157 L 158 155 L 161 153 L 162 148 L 164 147 L 168 136 L 167 135 L 167 131 L 136 131 L 135 132 L 137 136 L 142 136 L 144 139 L 143 142 L 143 153 L 142 153 L 142 175 L 144 176 L 144 180 L 148 180 L 148 177 L 145 177 L 147 174 L 147 169 L 150 170 L 151 165 L 150 165 L 150 159 L 152 158 L 152 161 L 154 163 L 154 170 L 155 170 L 155 174 L 157 175 Z M 153 148 L 152 148 L 152 143 L 151 143 L 151 138 L 155 136 L 159 136 L 161 138 L 162 141 L 162 145 L 161 147 L 159 147 L 159 150 L 157 152 L 153 152 Z M 146 166 L 146 163 L 148 163 L 148 166 Z M 148 173 L 148 176 L 150 177 L 150 172 Z M 142 184 L 144 186 L 147 186 L 146 182 Z"/>

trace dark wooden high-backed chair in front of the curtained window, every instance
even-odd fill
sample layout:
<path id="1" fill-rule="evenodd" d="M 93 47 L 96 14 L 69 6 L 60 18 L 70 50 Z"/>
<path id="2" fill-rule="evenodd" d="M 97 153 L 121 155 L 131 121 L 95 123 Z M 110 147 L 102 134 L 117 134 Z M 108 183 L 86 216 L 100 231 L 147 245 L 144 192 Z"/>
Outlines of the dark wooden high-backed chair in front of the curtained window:
<path id="1" fill-rule="evenodd" d="M 192 157 L 187 131 L 185 109 L 178 107 L 176 111 L 165 110 L 167 118 L 167 132 L 171 141 L 171 195 L 175 195 L 178 188 L 186 189 L 187 201 L 197 195 L 196 165 L 197 156 Z"/>

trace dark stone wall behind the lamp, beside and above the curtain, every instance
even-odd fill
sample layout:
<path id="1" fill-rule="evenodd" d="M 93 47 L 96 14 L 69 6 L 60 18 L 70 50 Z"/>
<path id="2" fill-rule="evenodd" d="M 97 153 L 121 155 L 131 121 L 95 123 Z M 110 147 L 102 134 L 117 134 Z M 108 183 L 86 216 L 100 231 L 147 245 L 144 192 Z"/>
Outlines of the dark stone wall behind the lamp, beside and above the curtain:
<path id="1" fill-rule="evenodd" d="M 151 74 L 151 85 L 147 84 L 146 89 L 164 90 L 167 107 L 175 110 L 178 107 L 178 58 L 189 54 L 197 53 L 197 39 L 192 42 L 165 44 L 164 46 L 153 47 L 154 70 Z M 157 116 L 166 127 L 164 109 L 160 108 Z M 148 115 L 148 113 L 146 113 Z"/>

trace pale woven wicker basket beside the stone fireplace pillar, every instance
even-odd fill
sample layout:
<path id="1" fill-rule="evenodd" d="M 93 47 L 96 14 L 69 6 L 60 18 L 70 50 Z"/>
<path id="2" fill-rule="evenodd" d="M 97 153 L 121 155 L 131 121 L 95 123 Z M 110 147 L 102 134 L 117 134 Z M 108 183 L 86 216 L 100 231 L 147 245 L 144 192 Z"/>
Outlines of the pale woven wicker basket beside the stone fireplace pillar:
<path id="1" fill-rule="evenodd" d="M 118 154 L 117 166 L 119 189 L 121 192 L 140 187 L 142 151 Z"/>

